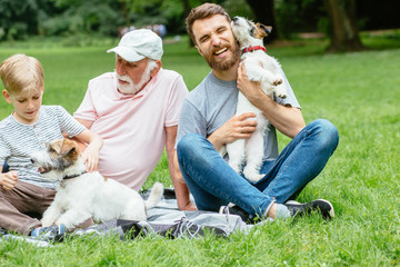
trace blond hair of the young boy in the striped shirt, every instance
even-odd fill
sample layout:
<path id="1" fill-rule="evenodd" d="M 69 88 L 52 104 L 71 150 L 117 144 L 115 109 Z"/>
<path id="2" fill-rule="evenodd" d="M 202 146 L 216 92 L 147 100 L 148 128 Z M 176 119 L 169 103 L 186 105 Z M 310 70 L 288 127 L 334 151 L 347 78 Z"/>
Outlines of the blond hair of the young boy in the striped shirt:
<path id="1" fill-rule="evenodd" d="M 0 65 L 0 76 L 6 90 L 10 95 L 44 87 L 44 75 L 41 63 L 36 58 L 23 53 L 6 59 Z"/>

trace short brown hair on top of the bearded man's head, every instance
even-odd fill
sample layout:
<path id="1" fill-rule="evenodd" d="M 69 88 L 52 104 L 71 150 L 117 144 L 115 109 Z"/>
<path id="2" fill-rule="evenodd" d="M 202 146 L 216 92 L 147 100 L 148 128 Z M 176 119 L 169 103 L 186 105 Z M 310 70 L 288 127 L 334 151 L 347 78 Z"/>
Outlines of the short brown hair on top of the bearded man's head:
<path id="1" fill-rule="evenodd" d="M 214 14 L 222 14 L 227 18 L 228 21 L 231 21 L 227 11 L 221 6 L 216 3 L 203 3 L 197 8 L 193 8 L 190 11 L 188 18 L 186 19 L 186 24 L 187 24 L 187 31 L 190 38 L 192 39 L 192 41 L 194 42 L 194 44 L 197 44 L 192 30 L 194 21 L 200 19 L 206 19 Z"/>

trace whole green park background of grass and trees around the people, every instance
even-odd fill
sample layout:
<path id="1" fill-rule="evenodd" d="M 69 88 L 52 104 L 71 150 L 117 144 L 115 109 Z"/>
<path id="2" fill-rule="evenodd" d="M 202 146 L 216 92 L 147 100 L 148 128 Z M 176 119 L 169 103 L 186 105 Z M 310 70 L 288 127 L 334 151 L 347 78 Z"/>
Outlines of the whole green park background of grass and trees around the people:
<path id="1" fill-rule="evenodd" d="M 306 121 L 326 118 L 338 127 L 337 151 L 298 199 L 327 198 L 337 217 L 276 221 L 228 238 L 71 238 L 47 248 L 1 239 L 0 266 L 400 265 L 399 2 L 213 2 L 231 16 L 273 24 L 276 34 L 266 47 L 281 62 Z M 106 50 L 118 43 L 118 27 L 163 23 L 163 68 L 181 73 L 191 90 L 210 71 L 184 33 L 186 12 L 199 3 L 0 0 L 0 60 L 14 53 L 37 57 L 44 68 L 43 103 L 61 105 L 72 113 L 88 81 L 113 70 L 114 56 Z M 264 8 L 256 6 L 260 3 Z M 273 20 L 252 7 L 272 12 Z M 342 14 L 333 18 L 330 13 L 339 11 L 332 10 Z M 334 33 L 333 24 L 340 22 L 339 29 L 348 31 Z M 0 119 L 11 111 L 6 101 L 0 103 Z M 280 149 L 287 142 L 280 135 Z M 156 180 L 171 186 L 166 154 L 144 188 Z"/>

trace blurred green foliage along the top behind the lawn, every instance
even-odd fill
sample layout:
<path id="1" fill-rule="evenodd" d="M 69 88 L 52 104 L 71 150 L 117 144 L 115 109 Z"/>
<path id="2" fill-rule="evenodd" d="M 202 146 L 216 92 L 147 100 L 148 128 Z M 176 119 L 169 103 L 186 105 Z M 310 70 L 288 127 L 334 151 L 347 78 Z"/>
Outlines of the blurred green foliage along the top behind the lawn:
<path id="1" fill-rule="evenodd" d="M 101 34 L 116 37 L 119 27 L 163 23 L 168 33 L 184 33 L 188 10 L 204 0 L 0 0 L 0 41 L 24 40 L 29 36 Z M 246 0 L 214 0 L 231 16 L 256 19 Z M 274 0 L 280 36 L 293 32 L 328 32 L 329 20 L 319 0 Z M 390 0 L 357 0 L 360 29 L 399 28 Z"/>

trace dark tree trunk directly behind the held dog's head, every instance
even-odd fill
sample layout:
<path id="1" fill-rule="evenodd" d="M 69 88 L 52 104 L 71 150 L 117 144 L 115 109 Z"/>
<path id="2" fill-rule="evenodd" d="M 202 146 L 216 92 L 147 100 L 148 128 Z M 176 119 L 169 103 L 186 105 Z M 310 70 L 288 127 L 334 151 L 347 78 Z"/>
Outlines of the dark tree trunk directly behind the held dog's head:
<path id="1" fill-rule="evenodd" d="M 278 26 L 274 14 L 273 0 L 246 0 L 256 16 L 254 22 L 260 22 L 264 26 L 272 26 L 272 32 L 264 38 L 264 43 L 278 39 Z"/>

